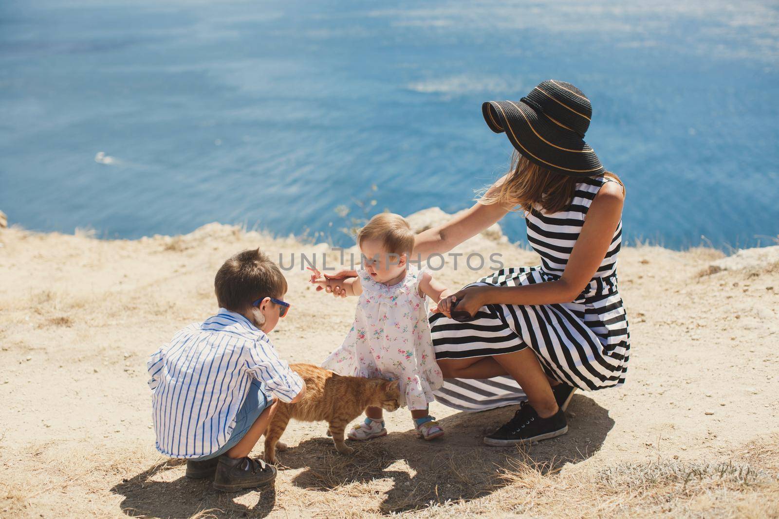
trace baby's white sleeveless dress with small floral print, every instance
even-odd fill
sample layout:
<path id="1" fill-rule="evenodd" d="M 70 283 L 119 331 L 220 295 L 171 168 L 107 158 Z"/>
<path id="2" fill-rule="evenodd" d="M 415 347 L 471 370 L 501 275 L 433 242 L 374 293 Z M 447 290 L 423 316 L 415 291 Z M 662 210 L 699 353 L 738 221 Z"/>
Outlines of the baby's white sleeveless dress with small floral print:
<path id="1" fill-rule="evenodd" d="M 435 363 L 425 295 L 419 294 L 424 269 L 409 265 L 395 285 L 376 282 L 358 271 L 362 294 L 354 325 L 322 366 L 341 375 L 400 381 L 400 405 L 426 409 L 443 377 Z"/>

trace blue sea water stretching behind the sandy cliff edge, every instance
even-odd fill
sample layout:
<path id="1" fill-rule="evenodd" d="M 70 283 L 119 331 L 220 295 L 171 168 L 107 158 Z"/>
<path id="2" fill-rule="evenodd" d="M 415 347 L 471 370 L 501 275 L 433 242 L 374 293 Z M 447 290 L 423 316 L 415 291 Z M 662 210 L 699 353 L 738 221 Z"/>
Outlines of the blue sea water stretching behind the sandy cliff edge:
<path id="1" fill-rule="evenodd" d="M 777 2 L 4 0 L 0 209 L 347 244 L 352 217 L 471 205 L 511 151 L 481 103 L 553 78 L 592 101 L 631 243 L 774 244 L 777 36 Z"/>

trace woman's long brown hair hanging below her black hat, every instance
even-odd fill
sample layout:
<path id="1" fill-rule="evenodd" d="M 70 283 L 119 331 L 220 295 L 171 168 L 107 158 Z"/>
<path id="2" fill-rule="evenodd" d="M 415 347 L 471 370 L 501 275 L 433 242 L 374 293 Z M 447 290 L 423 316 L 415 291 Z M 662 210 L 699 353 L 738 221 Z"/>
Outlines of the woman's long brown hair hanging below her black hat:
<path id="1" fill-rule="evenodd" d="M 619 182 L 625 191 L 625 185 L 611 171 L 605 171 L 603 176 Z M 508 173 L 501 181 L 478 191 L 478 202 L 504 205 L 511 211 L 530 212 L 540 206 L 546 213 L 558 212 L 571 203 L 580 181 L 531 163 L 515 150 Z"/>

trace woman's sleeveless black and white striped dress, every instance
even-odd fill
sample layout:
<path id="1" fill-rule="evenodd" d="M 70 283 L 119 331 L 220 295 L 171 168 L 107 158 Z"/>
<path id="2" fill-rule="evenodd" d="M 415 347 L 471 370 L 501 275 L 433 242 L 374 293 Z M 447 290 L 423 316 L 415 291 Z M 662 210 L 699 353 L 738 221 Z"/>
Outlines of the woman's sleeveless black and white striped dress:
<path id="1" fill-rule="evenodd" d="M 559 279 L 579 237 L 587 210 L 607 177 L 587 178 L 565 210 L 525 217 L 527 240 L 541 256 L 541 265 L 503 268 L 476 285 L 520 286 Z M 583 390 L 625 382 L 630 334 L 617 289 L 617 254 L 622 220 L 608 252 L 587 288 L 571 303 L 542 305 L 490 304 L 477 319 L 460 323 L 443 314 L 429 314 L 435 359 L 465 359 L 520 351 L 530 346 L 545 372 Z M 455 409 L 480 411 L 526 400 L 512 377 L 485 380 L 446 379 L 435 399 Z"/>

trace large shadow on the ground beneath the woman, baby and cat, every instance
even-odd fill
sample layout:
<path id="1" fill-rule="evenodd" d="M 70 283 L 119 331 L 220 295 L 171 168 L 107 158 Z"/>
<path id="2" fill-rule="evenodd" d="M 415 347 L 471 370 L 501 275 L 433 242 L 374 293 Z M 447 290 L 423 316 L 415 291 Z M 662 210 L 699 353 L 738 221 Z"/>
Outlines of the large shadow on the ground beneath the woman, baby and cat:
<path id="1" fill-rule="evenodd" d="M 345 458 L 335 453 L 329 439 L 314 438 L 280 453 L 284 468 L 307 468 L 293 479 L 296 486 L 329 491 L 350 482 L 390 478 L 392 489 L 380 505 L 384 513 L 402 512 L 443 503 L 472 500 L 506 485 L 503 472 L 523 462 L 549 472 L 566 463 L 590 458 L 601 448 L 614 420 L 608 411 L 583 395 L 569 406 L 569 433 L 530 447 L 486 447 L 485 433 L 505 423 L 516 405 L 484 412 L 459 412 L 439 420 L 445 440 L 423 442 L 414 433 L 390 433 L 379 440 L 355 445 Z M 398 461 L 408 465 L 398 466 Z M 415 475 L 411 476 L 415 472 Z"/>

